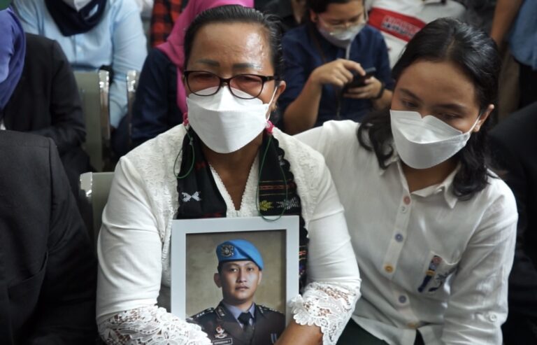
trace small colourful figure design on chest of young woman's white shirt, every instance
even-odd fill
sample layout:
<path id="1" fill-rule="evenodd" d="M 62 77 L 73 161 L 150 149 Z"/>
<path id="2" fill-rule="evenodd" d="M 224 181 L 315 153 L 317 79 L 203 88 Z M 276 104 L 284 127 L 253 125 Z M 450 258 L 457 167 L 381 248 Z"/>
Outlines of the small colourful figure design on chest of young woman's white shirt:
<path id="1" fill-rule="evenodd" d="M 458 260 L 449 262 L 445 256 L 430 251 L 424 262 L 422 275 L 418 281 L 417 292 L 423 294 L 435 294 L 438 290 L 445 289 L 445 282 L 457 271 Z"/>

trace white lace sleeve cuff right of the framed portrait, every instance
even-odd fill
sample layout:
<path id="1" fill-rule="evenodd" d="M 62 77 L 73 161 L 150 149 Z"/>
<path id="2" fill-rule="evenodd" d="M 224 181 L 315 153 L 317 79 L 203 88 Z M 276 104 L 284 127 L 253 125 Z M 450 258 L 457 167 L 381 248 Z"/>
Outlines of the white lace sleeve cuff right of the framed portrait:
<path id="1" fill-rule="evenodd" d="M 359 298 L 359 288 L 338 283 L 310 283 L 302 295 L 294 297 L 290 307 L 299 325 L 316 325 L 322 332 L 322 344 L 336 344 Z"/>

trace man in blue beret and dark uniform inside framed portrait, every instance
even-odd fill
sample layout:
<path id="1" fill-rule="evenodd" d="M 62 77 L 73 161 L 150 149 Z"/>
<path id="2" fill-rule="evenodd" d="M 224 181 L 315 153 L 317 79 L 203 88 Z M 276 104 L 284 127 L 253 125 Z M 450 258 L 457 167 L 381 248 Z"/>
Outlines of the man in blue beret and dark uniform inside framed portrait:
<path id="1" fill-rule="evenodd" d="M 274 344 L 285 328 L 279 311 L 254 303 L 261 283 L 263 258 L 253 244 L 243 239 L 225 241 L 216 247 L 218 273 L 214 280 L 222 288 L 222 301 L 189 318 L 207 333 L 213 345 Z"/>

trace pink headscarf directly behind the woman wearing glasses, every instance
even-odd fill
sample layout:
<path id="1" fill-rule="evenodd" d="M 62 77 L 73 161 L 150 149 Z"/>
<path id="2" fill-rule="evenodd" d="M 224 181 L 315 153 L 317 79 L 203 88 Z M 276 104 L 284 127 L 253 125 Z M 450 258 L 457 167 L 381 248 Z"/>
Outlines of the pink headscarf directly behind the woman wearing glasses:
<path id="1" fill-rule="evenodd" d="M 166 42 L 157 45 L 157 49 L 162 50 L 164 54 L 171 59 L 177 66 L 177 106 L 182 113 L 187 111 L 187 94 L 185 85 L 182 83 L 182 71 L 185 64 L 185 32 L 194 18 L 204 10 L 224 5 L 241 5 L 244 7 L 254 7 L 253 0 L 190 0 L 185 10 L 179 15 L 176 23 L 173 24 L 170 36 Z"/>

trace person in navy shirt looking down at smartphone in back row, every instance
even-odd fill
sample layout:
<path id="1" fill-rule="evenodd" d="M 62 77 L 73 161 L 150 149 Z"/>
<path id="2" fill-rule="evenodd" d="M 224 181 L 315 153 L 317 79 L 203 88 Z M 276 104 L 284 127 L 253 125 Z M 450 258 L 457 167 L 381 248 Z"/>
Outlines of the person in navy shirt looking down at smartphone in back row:
<path id="1" fill-rule="evenodd" d="M 308 0 L 306 24 L 287 31 L 282 47 L 287 90 L 278 104 L 289 134 L 324 121 L 360 121 L 392 99 L 389 58 L 382 34 L 366 25 L 363 0 Z M 345 85 L 366 69 L 371 78 Z"/>

